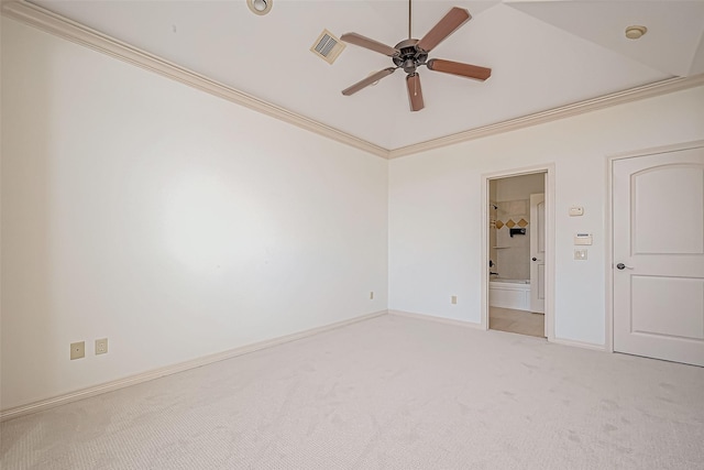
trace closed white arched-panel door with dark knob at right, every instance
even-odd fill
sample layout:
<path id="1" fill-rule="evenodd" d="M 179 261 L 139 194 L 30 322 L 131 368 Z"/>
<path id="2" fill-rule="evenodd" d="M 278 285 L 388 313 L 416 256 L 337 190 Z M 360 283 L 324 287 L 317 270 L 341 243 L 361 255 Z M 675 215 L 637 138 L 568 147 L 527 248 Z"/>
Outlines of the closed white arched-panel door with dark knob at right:
<path id="1" fill-rule="evenodd" d="M 704 147 L 612 171 L 614 350 L 704 365 Z"/>

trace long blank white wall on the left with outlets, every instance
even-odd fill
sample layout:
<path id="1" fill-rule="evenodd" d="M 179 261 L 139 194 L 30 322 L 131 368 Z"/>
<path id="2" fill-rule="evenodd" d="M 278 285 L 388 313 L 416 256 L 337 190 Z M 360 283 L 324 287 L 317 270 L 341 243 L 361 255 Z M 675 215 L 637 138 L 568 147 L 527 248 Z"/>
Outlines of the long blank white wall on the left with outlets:
<path id="1" fill-rule="evenodd" d="M 2 408 L 386 308 L 387 161 L 2 23 Z"/>

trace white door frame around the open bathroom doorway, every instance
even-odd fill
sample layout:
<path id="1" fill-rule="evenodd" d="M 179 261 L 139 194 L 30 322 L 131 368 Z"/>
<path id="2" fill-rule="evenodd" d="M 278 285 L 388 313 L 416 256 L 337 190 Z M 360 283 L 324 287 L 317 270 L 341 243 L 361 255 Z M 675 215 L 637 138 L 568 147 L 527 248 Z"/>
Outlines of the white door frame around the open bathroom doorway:
<path id="1" fill-rule="evenodd" d="M 482 324 L 481 328 L 488 330 L 488 234 L 490 234 L 490 181 L 508 178 L 512 176 L 544 173 L 546 195 L 546 330 L 548 341 L 554 341 L 554 164 L 526 166 L 520 168 L 504 170 L 501 172 L 485 173 L 482 175 Z"/>

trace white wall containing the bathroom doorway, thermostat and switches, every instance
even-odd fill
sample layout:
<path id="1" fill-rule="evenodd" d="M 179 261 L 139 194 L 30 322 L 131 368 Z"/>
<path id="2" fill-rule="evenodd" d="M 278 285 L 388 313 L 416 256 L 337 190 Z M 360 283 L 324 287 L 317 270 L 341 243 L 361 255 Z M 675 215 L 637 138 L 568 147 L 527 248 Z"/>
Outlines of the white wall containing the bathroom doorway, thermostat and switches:
<path id="1" fill-rule="evenodd" d="M 556 338 L 604 345 L 607 157 L 701 139 L 704 87 L 393 160 L 389 309 L 479 324 L 482 175 L 554 164 Z M 587 261 L 573 260 L 576 231 L 594 233 Z"/>

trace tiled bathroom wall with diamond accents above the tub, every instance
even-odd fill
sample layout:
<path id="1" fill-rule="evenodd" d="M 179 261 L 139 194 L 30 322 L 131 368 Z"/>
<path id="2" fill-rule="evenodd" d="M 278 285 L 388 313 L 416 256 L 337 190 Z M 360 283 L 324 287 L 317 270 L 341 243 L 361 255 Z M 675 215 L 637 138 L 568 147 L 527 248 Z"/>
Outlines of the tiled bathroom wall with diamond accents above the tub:
<path id="1" fill-rule="evenodd" d="M 530 195 L 544 192 L 542 173 L 496 179 L 495 247 L 493 272 L 512 280 L 530 278 Z M 510 237 L 510 229 L 525 228 L 526 234 Z M 491 239 L 491 237 L 490 237 Z"/>

